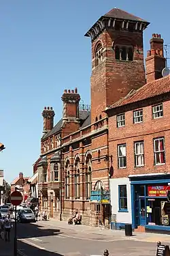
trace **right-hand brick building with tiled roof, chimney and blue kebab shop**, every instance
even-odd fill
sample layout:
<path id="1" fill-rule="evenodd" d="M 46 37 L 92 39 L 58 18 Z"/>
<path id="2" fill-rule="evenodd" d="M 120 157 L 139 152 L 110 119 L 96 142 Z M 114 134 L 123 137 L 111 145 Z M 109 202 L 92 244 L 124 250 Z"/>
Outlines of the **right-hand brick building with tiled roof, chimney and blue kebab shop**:
<path id="1" fill-rule="evenodd" d="M 170 76 L 163 39 L 153 34 L 146 57 L 146 85 L 107 109 L 109 153 L 114 156 L 110 180 L 113 224 L 132 223 L 138 231 L 170 230 L 163 212 L 170 190 Z"/>

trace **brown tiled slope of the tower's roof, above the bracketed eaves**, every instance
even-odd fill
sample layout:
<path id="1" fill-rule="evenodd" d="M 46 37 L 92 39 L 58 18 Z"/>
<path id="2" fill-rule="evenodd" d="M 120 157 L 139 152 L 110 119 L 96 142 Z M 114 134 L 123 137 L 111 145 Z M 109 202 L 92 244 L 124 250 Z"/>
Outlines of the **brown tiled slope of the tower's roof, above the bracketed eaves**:
<path id="1" fill-rule="evenodd" d="M 129 14 L 129 12 L 124 12 L 123 10 L 120 10 L 118 8 L 114 8 L 107 12 L 107 14 L 103 15 L 104 17 L 110 17 L 110 18 L 120 18 L 123 20 L 134 20 L 134 21 L 141 21 L 143 23 L 148 23 L 146 20 L 143 20 L 142 18 L 139 18 L 137 16 L 134 16 L 133 14 Z"/>

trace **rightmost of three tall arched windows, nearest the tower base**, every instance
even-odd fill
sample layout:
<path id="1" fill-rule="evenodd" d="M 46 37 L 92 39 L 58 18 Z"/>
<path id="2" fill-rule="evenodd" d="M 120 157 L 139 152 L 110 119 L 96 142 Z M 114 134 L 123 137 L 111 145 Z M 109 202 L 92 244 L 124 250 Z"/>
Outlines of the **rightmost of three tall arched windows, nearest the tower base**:
<path id="1" fill-rule="evenodd" d="M 92 190 L 92 156 L 88 154 L 86 159 L 86 173 L 85 173 L 85 196 L 86 199 L 90 199 L 90 193 Z"/>

